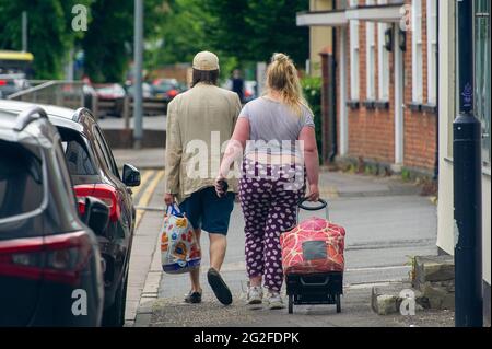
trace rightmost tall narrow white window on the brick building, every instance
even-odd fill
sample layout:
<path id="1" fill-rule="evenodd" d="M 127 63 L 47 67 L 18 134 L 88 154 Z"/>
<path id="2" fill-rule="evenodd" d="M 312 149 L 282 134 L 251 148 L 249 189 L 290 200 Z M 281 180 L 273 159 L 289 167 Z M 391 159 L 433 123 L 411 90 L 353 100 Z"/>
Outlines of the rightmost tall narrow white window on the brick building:
<path id="1" fill-rule="evenodd" d="M 427 104 L 437 101 L 437 1 L 427 0 Z"/>

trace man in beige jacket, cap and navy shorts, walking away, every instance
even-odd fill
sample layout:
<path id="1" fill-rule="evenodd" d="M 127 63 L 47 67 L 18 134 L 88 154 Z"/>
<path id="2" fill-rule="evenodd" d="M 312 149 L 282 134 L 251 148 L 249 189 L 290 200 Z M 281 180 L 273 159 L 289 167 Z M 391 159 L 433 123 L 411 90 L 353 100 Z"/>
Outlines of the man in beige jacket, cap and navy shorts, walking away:
<path id="1" fill-rule="evenodd" d="M 215 296 L 222 304 L 232 303 L 232 294 L 219 274 L 225 257 L 226 234 L 237 182 L 229 181 L 229 191 L 218 197 L 214 189 L 214 168 L 219 168 L 220 150 L 212 149 L 212 139 L 227 141 L 234 130 L 241 112 L 236 93 L 216 86 L 219 58 L 209 51 L 195 56 L 192 84 L 187 92 L 177 95 L 167 107 L 166 139 L 166 194 L 165 203 L 180 202 L 194 226 L 197 241 L 201 230 L 210 239 L 210 269 L 207 279 Z M 207 144 L 207 151 L 198 153 L 199 168 L 196 167 L 196 147 Z M 188 148 L 194 148 L 191 151 Z M 204 171 L 203 171 L 204 170 Z M 203 175 L 207 173 L 207 175 Z M 190 272 L 191 290 L 185 298 L 187 303 L 200 303 L 202 289 L 200 271 Z"/>

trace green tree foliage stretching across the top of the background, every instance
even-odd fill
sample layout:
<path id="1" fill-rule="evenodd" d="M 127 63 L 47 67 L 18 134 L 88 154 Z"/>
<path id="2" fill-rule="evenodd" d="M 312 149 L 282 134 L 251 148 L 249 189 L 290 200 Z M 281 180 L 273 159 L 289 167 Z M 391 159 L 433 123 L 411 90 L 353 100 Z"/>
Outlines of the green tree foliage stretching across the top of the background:
<path id="1" fill-rule="evenodd" d="M 308 56 L 308 30 L 295 14 L 304 0 L 145 0 L 144 66 L 190 62 L 213 50 L 222 77 L 234 68 L 266 61 L 274 51 L 297 65 Z M 74 32 L 74 4 L 89 9 L 87 32 Z M 0 0 L 0 48 L 21 49 L 21 14 L 28 12 L 30 51 L 38 79 L 59 79 L 70 49 L 83 49 L 93 81 L 122 81 L 133 50 L 133 0 Z"/>

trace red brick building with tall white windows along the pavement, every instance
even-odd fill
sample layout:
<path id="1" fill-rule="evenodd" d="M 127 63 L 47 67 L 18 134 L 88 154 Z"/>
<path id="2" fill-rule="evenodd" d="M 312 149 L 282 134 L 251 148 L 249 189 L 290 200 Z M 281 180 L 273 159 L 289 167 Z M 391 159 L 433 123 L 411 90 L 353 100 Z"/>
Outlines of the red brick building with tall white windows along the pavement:
<path id="1" fill-rule="evenodd" d="M 327 162 L 433 175 L 436 14 L 437 0 L 331 0 L 331 10 L 297 14 L 297 25 L 333 28 L 319 53 Z"/>

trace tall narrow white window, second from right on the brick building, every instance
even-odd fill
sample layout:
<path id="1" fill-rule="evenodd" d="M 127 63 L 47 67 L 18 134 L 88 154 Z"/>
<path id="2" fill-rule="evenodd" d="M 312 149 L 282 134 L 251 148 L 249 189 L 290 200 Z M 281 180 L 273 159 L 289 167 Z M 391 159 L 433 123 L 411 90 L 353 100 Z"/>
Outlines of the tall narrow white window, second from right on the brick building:
<path id="1" fill-rule="evenodd" d="M 412 102 L 423 102 L 422 0 L 412 1 Z"/>

